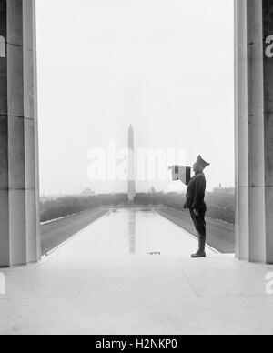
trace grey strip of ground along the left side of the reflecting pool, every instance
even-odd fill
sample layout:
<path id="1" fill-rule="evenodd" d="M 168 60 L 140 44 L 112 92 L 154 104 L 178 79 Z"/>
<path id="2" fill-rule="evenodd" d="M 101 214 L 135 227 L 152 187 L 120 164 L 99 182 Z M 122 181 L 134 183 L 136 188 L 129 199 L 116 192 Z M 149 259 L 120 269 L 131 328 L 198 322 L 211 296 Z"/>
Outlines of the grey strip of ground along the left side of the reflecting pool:
<path id="1" fill-rule="evenodd" d="M 107 209 L 96 208 L 92 211 L 81 213 L 80 215 L 66 217 L 42 225 L 42 255 L 45 255 L 46 252 L 64 243 L 80 230 L 96 221 L 96 219 L 106 215 L 107 212 Z"/>

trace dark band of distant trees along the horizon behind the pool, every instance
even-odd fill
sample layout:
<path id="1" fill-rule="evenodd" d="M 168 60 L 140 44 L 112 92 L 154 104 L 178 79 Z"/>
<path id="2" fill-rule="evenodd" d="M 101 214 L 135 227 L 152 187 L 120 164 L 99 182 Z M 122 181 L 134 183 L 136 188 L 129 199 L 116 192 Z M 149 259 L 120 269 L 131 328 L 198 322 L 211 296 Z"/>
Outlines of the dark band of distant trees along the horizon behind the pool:
<path id="1" fill-rule="evenodd" d="M 138 193 L 136 207 L 170 207 L 184 210 L 186 196 L 177 193 Z M 235 223 L 235 196 L 226 193 L 207 193 L 207 217 L 227 223 Z M 41 222 L 67 217 L 97 207 L 127 207 L 126 194 L 69 196 L 47 198 L 41 201 Z"/>

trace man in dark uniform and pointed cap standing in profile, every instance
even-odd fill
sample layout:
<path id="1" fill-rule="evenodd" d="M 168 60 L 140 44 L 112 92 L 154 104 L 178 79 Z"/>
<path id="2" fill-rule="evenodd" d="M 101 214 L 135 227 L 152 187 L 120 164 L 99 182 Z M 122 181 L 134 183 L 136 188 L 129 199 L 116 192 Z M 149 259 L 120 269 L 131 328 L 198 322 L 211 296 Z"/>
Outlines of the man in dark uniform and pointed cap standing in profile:
<path id="1" fill-rule="evenodd" d="M 187 186 L 187 201 L 184 208 L 188 208 L 190 216 L 198 233 L 199 249 L 192 258 L 206 257 L 206 220 L 205 215 L 207 206 L 205 204 L 206 177 L 204 169 L 210 166 L 201 156 L 198 156 L 197 162 L 193 166 L 195 176 L 193 176 Z"/>

